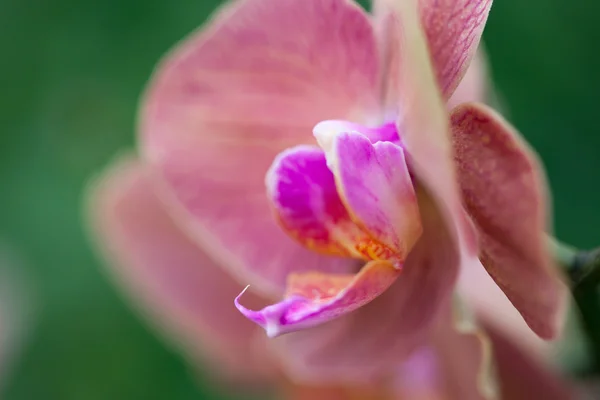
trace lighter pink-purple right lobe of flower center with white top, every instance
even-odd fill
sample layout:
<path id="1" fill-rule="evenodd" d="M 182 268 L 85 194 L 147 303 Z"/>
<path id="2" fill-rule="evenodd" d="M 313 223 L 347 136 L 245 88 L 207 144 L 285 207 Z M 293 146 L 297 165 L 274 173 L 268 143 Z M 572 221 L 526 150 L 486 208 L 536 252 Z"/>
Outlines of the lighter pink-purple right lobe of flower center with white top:
<path id="1" fill-rule="evenodd" d="M 358 132 L 322 128 L 315 127 L 315 136 L 326 152 L 342 201 L 353 220 L 392 252 L 372 258 L 404 262 L 422 227 L 402 147 L 391 142 L 371 144 Z"/>

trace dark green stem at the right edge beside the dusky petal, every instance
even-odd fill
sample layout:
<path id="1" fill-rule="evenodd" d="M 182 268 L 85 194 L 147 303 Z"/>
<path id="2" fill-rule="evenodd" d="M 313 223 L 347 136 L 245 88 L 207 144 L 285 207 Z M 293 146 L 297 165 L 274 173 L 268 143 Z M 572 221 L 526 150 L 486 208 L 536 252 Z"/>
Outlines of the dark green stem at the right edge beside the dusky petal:
<path id="1" fill-rule="evenodd" d="M 580 312 L 582 327 L 589 341 L 590 373 L 600 373 L 600 248 L 581 251 L 552 241 L 554 255 L 571 281 L 573 299 Z"/>

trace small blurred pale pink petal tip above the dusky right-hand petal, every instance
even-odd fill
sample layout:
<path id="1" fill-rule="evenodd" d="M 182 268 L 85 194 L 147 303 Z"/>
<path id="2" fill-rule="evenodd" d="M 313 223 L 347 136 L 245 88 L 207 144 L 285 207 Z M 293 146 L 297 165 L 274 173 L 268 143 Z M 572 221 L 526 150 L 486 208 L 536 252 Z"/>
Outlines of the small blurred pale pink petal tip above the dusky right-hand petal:
<path id="1" fill-rule="evenodd" d="M 448 110 L 462 104 L 477 101 L 490 104 L 494 101 L 485 51 L 479 46 L 460 84 L 448 100 Z"/>

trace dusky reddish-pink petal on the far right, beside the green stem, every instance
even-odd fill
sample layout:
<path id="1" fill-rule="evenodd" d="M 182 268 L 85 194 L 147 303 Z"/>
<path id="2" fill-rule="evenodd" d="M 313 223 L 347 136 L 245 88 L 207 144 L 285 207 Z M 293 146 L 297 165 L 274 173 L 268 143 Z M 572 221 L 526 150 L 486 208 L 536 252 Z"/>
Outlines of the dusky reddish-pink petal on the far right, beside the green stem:
<path id="1" fill-rule="evenodd" d="M 518 134 L 486 106 L 452 114 L 458 178 L 479 231 L 481 262 L 539 336 L 562 325 L 566 287 L 546 247 L 546 184 Z"/>

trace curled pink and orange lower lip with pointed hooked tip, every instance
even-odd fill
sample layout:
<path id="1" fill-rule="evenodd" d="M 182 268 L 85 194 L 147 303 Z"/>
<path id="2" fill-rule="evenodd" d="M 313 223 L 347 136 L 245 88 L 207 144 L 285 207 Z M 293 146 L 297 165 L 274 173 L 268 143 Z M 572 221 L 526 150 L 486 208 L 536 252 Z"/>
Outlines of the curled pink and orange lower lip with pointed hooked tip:
<path id="1" fill-rule="evenodd" d="M 371 261 L 356 275 L 293 274 L 283 301 L 252 311 L 240 304 L 242 292 L 235 305 L 269 337 L 275 337 L 320 325 L 364 306 L 390 287 L 399 273 L 387 261 Z"/>

